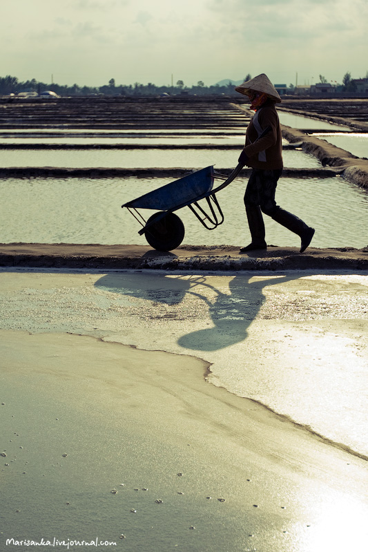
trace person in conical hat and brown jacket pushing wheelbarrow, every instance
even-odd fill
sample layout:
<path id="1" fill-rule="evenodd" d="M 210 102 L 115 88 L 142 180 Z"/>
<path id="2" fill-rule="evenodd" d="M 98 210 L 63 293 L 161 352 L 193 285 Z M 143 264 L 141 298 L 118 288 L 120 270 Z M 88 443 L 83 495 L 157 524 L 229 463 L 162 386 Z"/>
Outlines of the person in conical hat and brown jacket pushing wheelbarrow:
<path id="1" fill-rule="evenodd" d="M 235 91 L 248 96 L 251 109 L 255 111 L 246 129 L 245 146 L 239 158 L 242 166 L 252 169 L 244 194 L 251 243 L 242 247 L 240 253 L 267 249 L 262 213 L 298 234 L 302 253 L 309 246 L 314 229 L 275 202 L 276 186 L 283 167 L 282 135 L 275 108 L 281 98 L 264 73 L 236 86 Z"/>

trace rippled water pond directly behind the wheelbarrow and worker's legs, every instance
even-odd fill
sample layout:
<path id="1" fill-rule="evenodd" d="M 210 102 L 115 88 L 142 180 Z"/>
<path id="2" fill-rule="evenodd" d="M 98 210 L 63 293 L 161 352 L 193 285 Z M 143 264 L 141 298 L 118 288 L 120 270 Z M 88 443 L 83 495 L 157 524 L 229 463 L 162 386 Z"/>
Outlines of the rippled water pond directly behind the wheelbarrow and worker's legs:
<path id="1" fill-rule="evenodd" d="M 157 179 L 35 178 L 0 180 L 0 242 L 101 243 L 147 245 L 139 224 L 123 203 L 167 184 Z M 246 179 L 237 178 L 217 194 L 224 224 L 208 231 L 187 208 L 178 211 L 184 244 L 244 245 L 249 231 L 243 196 Z M 281 178 L 278 203 L 316 228 L 315 247 L 366 247 L 368 196 L 342 178 Z M 153 211 L 142 211 L 148 218 Z M 298 247 L 298 236 L 265 217 L 269 244 Z"/>

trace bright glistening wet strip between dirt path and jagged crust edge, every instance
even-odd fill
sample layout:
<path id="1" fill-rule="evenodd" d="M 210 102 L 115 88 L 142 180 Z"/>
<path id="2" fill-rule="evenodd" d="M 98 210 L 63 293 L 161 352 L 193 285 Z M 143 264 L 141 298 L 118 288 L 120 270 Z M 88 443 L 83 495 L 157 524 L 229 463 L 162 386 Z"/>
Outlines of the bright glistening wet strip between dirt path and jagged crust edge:
<path id="1" fill-rule="evenodd" d="M 190 351 L 211 363 L 209 380 L 216 385 L 368 455 L 359 395 L 367 368 L 365 272 L 43 276 L 3 270 L 1 283 L 3 329 L 80 331 L 146 350 Z M 284 386 L 291 376 L 294 383 Z"/>

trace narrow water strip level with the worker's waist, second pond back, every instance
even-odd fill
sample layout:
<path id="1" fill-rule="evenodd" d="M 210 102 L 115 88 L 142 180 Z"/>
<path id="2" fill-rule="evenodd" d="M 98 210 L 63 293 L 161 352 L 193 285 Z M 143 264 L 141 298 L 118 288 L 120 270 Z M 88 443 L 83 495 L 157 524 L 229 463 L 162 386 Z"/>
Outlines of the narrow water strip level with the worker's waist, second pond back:
<path id="1" fill-rule="evenodd" d="M 215 149 L 133 149 L 133 150 L 3 150 L 0 151 L 0 166 L 58 166 L 58 167 L 124 167 L 124 168 L 171 168 L 188 169 L 215 165 L 228 168 L 238 164 L 242 151 Z M 302 151 L 286 150 L 284 165 L 293 168 L 321 166 L 313 156 Z"/>

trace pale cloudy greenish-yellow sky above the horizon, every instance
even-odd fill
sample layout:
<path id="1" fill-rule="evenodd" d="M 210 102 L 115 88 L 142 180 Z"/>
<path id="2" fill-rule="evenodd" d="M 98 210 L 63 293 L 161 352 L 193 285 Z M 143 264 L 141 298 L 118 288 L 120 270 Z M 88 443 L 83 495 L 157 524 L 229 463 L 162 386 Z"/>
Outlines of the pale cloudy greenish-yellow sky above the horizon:
<path id="1" fill-rule="evenodd" d="M 1 0 L 0 77 L 190 87 L 368 71 L 367 0 Z"/>

